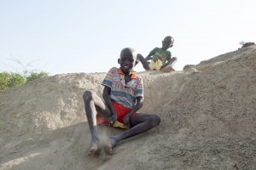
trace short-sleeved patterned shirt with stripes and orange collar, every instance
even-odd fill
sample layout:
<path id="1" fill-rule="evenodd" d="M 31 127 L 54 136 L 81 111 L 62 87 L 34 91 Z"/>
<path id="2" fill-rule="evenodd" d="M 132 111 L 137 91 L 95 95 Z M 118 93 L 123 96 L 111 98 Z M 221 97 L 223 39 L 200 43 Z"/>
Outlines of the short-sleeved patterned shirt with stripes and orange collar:
<path id="1" fill-rule="evenodd" d="M 116 67 L 108 71 L 102 85 L 111 88 L 110 99 L 129 108 L 135 105 L 137 97 L 143 97 L 143 79 L 131 74 L 131 81 L 125 84 L 125 74 Z"/>

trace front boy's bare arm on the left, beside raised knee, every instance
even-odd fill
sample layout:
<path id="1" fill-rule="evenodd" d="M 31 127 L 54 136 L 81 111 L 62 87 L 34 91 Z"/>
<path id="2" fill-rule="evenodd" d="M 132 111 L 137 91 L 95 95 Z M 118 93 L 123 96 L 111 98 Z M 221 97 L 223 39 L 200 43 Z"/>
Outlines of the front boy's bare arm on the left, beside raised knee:
<path id="1" fill-rule="evenodd" d="M 113 123 L 116 122 L 117 116 L 116 116 L 116 112 L 113 109 L 113 105 L 112 105 L 112 102 L 110 99 L 110 91 L 111 91 L 111 88 L 109 88 L 108 86 L 104 86 L 102 97 L 103 97 L 104 101 L 106 102 L 106 104 L 108 105 L 108 109 L 110 110 L 110 112 L 112 114 L 112 116 L 108 120 L 110 126 L 112 126 Z"/>

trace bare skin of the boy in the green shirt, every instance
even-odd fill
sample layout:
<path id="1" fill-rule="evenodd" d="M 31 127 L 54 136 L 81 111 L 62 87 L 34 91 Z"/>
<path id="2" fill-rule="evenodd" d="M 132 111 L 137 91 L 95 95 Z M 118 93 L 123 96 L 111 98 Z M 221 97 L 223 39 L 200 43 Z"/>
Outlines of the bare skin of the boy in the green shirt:
<path id="1" fill-rule="evenodd" d="M 172 48 L 172 46 L 173 46 L 172 37 L 170 37 L 170 36 L 165 37 L 165 39 L 162 41 L 162 49 L 163 49 L 163 50 L 167 50 L 168 48 Z M 150 70 L 148 60 L 154 59 L 154 61 L 155 61 L 155 60 L 157 60 L 157 59 L 155 59 L 155 58 L 156 58 L 156 57 L 155 57 L 154 54 L 152 54 L 152 53 L 149 53 L 146 58 L 144 58 L 142 54 L 137 54 L 137 60 L 139 60 L 139 61 L 142 63 L 143 68 L 144 68 L 146 71 Z M 161 70 L 161 71 L 169 71 L 170 69 L 166 70 L 166 69 L 164 69 L 164 68 L 165 68 L 167 65 L 169 65 L 170 62 L 172 62 L 172 59 L 168 59 L 167 62 L 166 62 L 166 64 L 165 64 L 165 65 L 162 65 L 162 70 Z M 171 69 L 171 70 L 172 70 L 172 69 Z"/>

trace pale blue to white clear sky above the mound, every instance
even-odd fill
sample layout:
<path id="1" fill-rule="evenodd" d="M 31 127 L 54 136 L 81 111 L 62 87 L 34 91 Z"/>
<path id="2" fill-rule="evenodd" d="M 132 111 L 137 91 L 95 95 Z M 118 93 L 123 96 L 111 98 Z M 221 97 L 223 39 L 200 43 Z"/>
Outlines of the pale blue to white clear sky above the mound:
<path id="1" fill-rule="evenodd" d="M 255 16 L 254 0 L 0 0 L 0 71 L 108 72 L 166 36 L 182 71 L 256 42 Z"/>

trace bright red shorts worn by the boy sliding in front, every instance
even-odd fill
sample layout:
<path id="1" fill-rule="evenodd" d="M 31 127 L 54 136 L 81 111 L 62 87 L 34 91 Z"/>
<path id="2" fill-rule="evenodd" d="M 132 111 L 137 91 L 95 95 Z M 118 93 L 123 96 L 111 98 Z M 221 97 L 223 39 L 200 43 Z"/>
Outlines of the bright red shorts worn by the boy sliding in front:
<path id="1" fill-rule="evenodd" d="M 114 101 L 112 101 L 112 105 L 113 105 L 113 110 L 117 114 L 117 121 L 124 123 L 123 119 L 124 119 L 125 115 L 127 115 L 127 113 L 129 113 L 129 111 L 131 111 L 131 108 L 125 107 L 124 105 L 120 105 L 119 103 L 116 103 Z M 133 113 L 131 116 L 133 116 L 135 114 L 136 114 L 136 112 Z M 96 122 L 97 122 L 97 124 L 105 124 L 105 125 L 109 124 L 109 122 L 102 119 L 102 116 L 98 113 L 96 114 Z"/>

